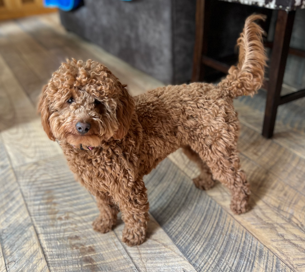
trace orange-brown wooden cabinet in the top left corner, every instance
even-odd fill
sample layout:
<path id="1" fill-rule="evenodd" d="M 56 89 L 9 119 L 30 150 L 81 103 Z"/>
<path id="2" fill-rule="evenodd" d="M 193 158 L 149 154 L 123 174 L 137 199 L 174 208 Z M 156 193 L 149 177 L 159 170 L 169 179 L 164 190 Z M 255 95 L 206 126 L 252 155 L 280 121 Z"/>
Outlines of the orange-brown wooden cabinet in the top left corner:
<path id="1" fill-rule="evenodd" d="M 42 1 L 0 0 L 0 20 L 56 11 L 55 8 L 45 8 Z"/>

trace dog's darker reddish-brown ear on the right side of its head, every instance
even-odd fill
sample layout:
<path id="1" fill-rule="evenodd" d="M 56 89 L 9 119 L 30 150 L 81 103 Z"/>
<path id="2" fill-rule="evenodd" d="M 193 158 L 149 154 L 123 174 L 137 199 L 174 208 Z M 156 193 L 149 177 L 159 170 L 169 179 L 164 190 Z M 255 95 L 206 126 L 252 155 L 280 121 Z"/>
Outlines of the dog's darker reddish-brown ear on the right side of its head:
<path id="1" fill-rule="evenodd" d="M 113 135 L 115 139 L 122 139 L 128 132 L 131 123 L 131 115 L 134 112 L 134 99 L 129 95 L 126 85 L 118 82 L 121 94 L 116 106 L 116 118 L 119 122 L 119 128 Z"/>

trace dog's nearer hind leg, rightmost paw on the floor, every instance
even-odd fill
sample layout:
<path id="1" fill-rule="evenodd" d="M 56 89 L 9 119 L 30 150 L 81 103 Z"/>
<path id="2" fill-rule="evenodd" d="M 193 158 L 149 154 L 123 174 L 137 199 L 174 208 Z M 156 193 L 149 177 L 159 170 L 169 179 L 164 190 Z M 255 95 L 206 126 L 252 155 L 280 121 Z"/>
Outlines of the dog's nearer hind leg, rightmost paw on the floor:
<path id="1" fill-rule="evenodd" d="M 231 192 L 230 208 L 235 214 L 245 213 L 250 195 L 249 183 L 240 169 L 236 139 L 223 135 L 211 146 L 192 146 L 207 163 L 213 178 L 228 187 Z"/>

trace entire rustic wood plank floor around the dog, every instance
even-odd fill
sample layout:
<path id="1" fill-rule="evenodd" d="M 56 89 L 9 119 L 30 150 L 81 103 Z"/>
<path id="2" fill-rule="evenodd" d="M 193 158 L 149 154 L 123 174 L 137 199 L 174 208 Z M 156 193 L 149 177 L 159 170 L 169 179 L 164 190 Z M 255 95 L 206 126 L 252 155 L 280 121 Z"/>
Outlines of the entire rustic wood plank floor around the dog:
<path id="1" fill-rule="evenodd" d="M 266 140 L 262 111 L 243 100 L 235 106 L 251 211 L 233 215 L 220 184 L 196 189 L 198 169 L 178 150 L 145 177 L 151 221 L 143 245 L 121 242 L 121 221 L 94 232 L 95 200 L 36 114 L 42 85 L 67 57 L 106 64 L 132 95 L 162 85 L 67 33 L 56 13 L 0 22 L 0 272 L 305 270 L 304 130 L 278 121 Z"/>

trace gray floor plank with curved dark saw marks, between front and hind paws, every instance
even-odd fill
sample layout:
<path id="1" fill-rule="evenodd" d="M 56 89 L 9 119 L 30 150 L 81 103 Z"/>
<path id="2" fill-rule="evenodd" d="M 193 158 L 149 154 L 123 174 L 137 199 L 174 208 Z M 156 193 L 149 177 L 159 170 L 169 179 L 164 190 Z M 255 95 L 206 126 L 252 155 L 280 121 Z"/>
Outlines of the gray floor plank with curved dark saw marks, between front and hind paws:
<path id="1" fill-rule="evenodd" d="M 292 271 L 170 160 L 145 184 L 150 212 L 197 271 Z"/>

